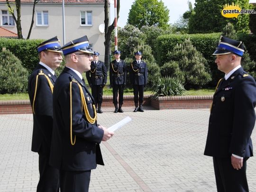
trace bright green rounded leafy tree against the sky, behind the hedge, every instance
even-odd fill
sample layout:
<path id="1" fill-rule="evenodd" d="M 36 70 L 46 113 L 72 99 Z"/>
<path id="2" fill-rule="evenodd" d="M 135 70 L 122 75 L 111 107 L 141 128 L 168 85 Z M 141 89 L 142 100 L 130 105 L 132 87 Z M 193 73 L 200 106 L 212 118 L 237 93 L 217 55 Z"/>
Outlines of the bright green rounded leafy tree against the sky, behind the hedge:
<path id="1" fill-rule="evenodd" d="M 135 0 L 128 14 L 128 24 L 139 29 L 144 25 L 166 28 L 168 22 L 169 9 L 162 0 Z"/>

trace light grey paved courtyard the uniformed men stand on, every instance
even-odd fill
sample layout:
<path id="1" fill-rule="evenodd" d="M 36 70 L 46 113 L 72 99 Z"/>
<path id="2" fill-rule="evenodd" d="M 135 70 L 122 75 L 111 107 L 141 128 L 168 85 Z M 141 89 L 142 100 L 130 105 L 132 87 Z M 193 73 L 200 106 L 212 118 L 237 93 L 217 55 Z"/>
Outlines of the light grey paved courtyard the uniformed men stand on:
<path id="1" fill-rule="evenodd" d="M 98 123 L 132 121 L 101 143 L 105 166 L 92 171 L 90 192 L 216 192 L 212 158 L 203 155 L 209 109 L 113 113 Z M 32 152 L 32 114 L 0 115 L 0 192 L 36 192 L 38 155 Z M 256 146 L 256 130 L 252 134 Z M 256 151 L 255 151 L 256 152 Z M 256 158 L 247 161 L 249 189 L 256 192 Z"/>

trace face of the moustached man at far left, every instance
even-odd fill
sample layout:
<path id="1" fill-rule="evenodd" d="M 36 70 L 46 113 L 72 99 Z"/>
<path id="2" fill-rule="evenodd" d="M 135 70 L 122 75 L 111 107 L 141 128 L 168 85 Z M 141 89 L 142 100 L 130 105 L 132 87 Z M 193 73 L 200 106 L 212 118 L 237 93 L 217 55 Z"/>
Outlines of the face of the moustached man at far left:
<path id="1" fill-rule="evenodd" d="M 49 66 L 51 69 L 55 70 L 60 67 L 62 62 L 62 53 L 54 51 L 42 51 L 41 58 L 43 58 L 43 63 Z"/>

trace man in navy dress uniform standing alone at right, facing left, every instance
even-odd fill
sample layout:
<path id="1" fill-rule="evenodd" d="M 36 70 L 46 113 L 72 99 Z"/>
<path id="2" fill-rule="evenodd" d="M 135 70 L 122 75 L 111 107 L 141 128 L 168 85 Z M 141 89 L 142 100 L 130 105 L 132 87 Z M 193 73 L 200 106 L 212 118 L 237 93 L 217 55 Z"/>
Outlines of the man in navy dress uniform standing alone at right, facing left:
<path id="1" fill-rule="evenodd" d="M 204 155 L 213 157 L 218 192 L 248 192 L 247 159 L 253 156 L 256 83 L 241 67 L 242 42 L 221 36 L 213 55 L 225 73 L 213 95 Z"/>

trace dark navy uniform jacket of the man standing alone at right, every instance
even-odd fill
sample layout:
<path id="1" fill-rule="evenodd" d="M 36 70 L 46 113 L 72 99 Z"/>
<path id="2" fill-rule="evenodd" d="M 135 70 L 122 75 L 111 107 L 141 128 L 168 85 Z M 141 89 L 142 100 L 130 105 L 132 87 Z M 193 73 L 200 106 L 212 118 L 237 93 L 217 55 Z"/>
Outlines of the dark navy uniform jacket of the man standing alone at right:
<path id="1" fill-rule="evenodd" d="M 253 156 L 256 83 L 242 67 L 219 83 L 213 95 L 204 155 L 217 158 Z"/>

